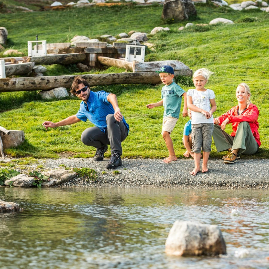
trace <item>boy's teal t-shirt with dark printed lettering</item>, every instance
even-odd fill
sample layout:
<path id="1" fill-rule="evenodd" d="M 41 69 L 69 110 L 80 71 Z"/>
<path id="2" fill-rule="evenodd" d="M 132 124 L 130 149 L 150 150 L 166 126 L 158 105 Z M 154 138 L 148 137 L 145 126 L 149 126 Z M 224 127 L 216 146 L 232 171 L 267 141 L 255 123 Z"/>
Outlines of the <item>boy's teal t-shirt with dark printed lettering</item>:
<path id="1" fill-rule="evenodd" d="M 163 117 L 174 117 L 178 118 L 181 107 L 181 99 L 182 94 L 184 94 L 184 90 L 176 84 L 172 82 L 170 85 L 164 85 L 162 88 L 162 99 L 163 99 Z"/>

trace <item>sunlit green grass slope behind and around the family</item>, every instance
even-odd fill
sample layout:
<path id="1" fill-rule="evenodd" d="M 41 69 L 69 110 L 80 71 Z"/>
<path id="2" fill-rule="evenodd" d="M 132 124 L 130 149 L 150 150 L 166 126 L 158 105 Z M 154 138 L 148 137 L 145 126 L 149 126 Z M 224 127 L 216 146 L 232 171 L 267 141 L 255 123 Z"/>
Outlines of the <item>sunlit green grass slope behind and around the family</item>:
<path id="1" fill-rule="evenodd" d="M 268 13 L 260 11 L 237 12 L 227 8 L 197 6 L 198 18 L 192 21 L 164 24 L 162 7 L 116 6 L 71 8 L 61 11 L 2 14 L 0 25 L 9 32 L 7 48 L 15 48 L 26 54 L 27 40 L 46 39 L 48 43 L 69 42 L 75 35 L 98 38 L 102 34 L 117 35 L 139 30 L 150 33 L 155 26 L 169 27 L 170 31 L 148 36 L 154 49 L 146 51 L 146 61 L 180 60 L 192 68 L 206 67 L 215 72 L 207 87 L 216 95 L 217 111 L 214 116 L 226 112 L 237 104 L 236 86 L 246 82 L 251 89 L 251 101 L 260 110 L 259 132 L 262 146 L 259 152 L 248 158 L 268 158 Z M 233 25 L 191 27 L 178 31 L 187 22 L 208 23 L 223 17 Z M 7 23 L 8 22 L 8 23 Z M 0 53 L 0 56 L 3 52 Z M 122 71 L 109 68 L 106 72 Z M 97 71 L 100 72 L 100 71 Z M 48 75 L 79 74 L 74 66 L 48 67 Z M 181 85 L 184 90 L 191 87 Z M 168 152 L 161 137 L 163 107 L 149 110 L 146 104 L 161 100 L 162 85 L 111 85 L 94 87 L 116 93 L 121 111 L 130 124 L 130 133 L 123 142 L 123 157 L 164 158 Z M 24 130 L 26 141 L 17 149 L 7 149 L 12 156 L 75 157 L 93 156 L 95 150 L 80 141 L 82 131 L 91 123 L 77 123 L 45 130 L 45 120 L 59 121 L 76 114 L 79 100 L 42 101 L 36 92 L 0 94 L 0 126 Z M 182 116 L 172 133 L 175 152 L 183 157 L 183 127 L 187 118 Z M 230 131 L 230 126 L 227 131 Z M 105 154 L 109 156 L 109 152 Z M 210 158 L 221 157 L 213 151 Z"/>

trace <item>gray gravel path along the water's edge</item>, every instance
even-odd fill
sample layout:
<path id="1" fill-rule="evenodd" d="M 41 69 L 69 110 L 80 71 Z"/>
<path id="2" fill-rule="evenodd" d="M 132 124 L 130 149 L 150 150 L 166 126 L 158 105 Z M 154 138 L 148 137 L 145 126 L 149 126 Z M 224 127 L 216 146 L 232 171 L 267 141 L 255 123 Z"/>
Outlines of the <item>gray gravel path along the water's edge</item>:
<path id="1" fill-rule="evenodd" d="M 61 158 L 43 159 L 38 163 L 28 165 L 28 169 L 43 166 L 44 171 L 66 167 L 88 167 L 97 171 L 97 182 L 87 182 L 82 178 L 74 178 L 62 186 L 158 186 L 184 188 L 244 188 L 268 189 L 269 160 L 238 160 L 233 164 L 225 164 L 220 159 L 208 161 L 208 173 L 199 172 L 190 175 L 194 167 L 192 159 L 181 159 L 172 163 L 163 163 L 162 160 L 152 159 L 123 159 L 123 165 L 114 170 L 106 169 L 108 159 L 101 162 L 93 158 Z M 14 167 L 14 169 L 16 169 Z M 105 171 L 106 173 L 104 173 Z M 103 173 L 102 173 L 103 172 Z"/>

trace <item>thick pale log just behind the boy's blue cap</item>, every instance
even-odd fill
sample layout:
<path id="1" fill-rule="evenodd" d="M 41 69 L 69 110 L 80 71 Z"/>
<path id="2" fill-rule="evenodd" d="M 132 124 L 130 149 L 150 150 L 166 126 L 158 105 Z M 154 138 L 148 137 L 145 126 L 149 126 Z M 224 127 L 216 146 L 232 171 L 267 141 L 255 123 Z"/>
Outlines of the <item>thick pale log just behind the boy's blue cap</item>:
<path id="1" fill-rule="evenodd" d="M 170 65 L 174 70 L 186 70 L 189 69 L 183 62 L 176 60 L 158 61 L 158 62 L 137 62 L 134 61 L 133 72 L 149 72 L 157 71 L 163 65 Z"/>

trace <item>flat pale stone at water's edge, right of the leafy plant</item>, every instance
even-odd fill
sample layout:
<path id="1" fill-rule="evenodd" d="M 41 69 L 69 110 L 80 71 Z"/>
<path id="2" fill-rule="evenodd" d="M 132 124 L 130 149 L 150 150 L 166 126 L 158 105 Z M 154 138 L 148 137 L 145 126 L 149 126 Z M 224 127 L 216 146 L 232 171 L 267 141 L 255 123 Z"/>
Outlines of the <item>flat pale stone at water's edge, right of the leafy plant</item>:
<path id="1" fill-rule="evenodd" d="M 53 169 L 47 172 L 44 172 L 44 175 L 50 178 L 50 181 L 44 181 L 42 186 L 51 187 L 54 185 L 62 184 L 76 177 L 77 173 L 72 170 L 65 169 Z"/>

